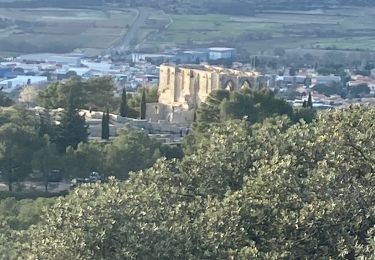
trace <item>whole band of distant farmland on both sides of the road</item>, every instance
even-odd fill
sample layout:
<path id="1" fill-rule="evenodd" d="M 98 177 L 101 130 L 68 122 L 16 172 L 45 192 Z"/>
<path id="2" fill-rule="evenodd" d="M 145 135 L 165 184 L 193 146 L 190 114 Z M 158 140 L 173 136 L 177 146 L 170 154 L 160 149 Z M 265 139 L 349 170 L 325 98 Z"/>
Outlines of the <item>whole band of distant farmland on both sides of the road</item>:
<path id="1" fill-rule="evenodd" d="M 375 8 L 268 10 L 252 16 L 150 13 L 133 43 L 142 42 L 141 49 L 216 45 L 266 54 L 276 47 L 375 51 Z M 1 8 L 0 54 L 105 49 L 126 34 L 134 17 L 126 9 Z"/>

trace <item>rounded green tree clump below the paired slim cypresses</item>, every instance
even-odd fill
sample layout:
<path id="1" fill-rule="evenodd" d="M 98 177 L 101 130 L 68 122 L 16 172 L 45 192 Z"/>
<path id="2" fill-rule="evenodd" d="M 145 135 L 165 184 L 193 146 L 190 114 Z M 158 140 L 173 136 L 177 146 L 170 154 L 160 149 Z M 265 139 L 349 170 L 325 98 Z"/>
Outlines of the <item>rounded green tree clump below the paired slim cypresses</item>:
<path id="1" fill-rule="evenodd" d="M 127 179 L 130 171 L 151 167 L 161 156 L 160 148 L 161 144 L 146 133 L 124 129 L 111 142 L 91 141 L 68 149 L 63 169 L 71 177 L 96 171 Z"/>

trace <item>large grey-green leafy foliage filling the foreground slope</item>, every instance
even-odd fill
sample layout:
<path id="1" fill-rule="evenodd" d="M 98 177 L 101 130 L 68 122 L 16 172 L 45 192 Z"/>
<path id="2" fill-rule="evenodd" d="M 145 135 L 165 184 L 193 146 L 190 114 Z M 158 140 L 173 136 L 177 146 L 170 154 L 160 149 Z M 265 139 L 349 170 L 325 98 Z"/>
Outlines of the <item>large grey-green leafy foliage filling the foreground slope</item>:
<path id="1" fill-rule="evenodd" d="M 212 126 L 182 161 L 59 199 L 16 236 L 19 257 L 371 259 L 374 118 L 352 106 L 311 124 Z"/>

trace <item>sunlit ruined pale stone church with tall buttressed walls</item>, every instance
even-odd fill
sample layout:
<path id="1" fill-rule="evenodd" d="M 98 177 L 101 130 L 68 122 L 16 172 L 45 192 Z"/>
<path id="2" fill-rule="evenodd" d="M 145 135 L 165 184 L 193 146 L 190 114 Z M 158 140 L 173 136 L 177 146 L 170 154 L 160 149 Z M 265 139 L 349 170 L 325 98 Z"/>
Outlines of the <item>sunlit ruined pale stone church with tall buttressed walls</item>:
<path id="1" fill-rule="evenodd" d="M 263 77 L 254 71 L 239 71 L 208 65 L 161 65 L 159 103 L 149 104 L 147 118 L 188 124 L 194 112 L 213 90 L 236 91 L 258 87 Z"/>

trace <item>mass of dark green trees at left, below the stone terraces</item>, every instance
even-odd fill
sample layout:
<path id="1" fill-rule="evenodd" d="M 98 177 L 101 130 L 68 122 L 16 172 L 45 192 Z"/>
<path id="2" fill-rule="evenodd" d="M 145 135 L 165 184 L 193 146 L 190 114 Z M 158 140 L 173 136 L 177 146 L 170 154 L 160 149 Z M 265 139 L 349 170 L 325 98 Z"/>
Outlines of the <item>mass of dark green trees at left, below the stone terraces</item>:
<path id="1" fill-rule="evenodd" d="M 106 130 L 104 139 L 108 124 Z M 87 177 L 93 171 L 127 179 L 130 171 L 151 167 L 161 156 L 182 155 L 136 129 L 119 131 L 110 141 L 87 140 L 84 119 L 73 108 L 61 114 L 58 125 L 52 124 L 48 110 L 39 114 L 17 107 L 0 110 L 0 181 L 9 190 L 19 191 L 19 184 L 29 180 L 43 183 L 47 192 L 54 179 Z"/>

